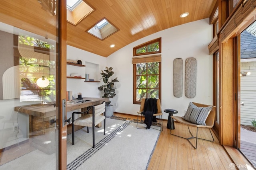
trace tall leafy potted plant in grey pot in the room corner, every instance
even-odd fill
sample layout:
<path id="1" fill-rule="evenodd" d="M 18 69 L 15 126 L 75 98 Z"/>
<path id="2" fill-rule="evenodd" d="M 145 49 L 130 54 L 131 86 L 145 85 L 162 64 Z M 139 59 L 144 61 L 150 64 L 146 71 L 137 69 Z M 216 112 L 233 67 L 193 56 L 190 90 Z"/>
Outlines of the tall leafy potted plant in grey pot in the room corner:
<path id="1" fill-rule="evenodd" d="M 110 67 L 105 67 L 106 70 L 102 71 L 102 73 L 100 73 L 102 75 L 103 82 L 104 85 L 98 87 L 98 89 L 100 91 L 104 92 L 104 95 L 102 96 L 102 98 L 114 98 L 114 96 L 116 96 L 115 91 L 116 91 L 116 86 L 114 85 L 115 82 L 119 82 L 117 80 L 117 77 L 115 79 L 111 79 L 110 81 L 110 77 L 114 74 L 113 68 Z M 111 101 L 106 102 L 106 116 L 112 116 L 113 115 L 113 105 L 110 104 Z"/>

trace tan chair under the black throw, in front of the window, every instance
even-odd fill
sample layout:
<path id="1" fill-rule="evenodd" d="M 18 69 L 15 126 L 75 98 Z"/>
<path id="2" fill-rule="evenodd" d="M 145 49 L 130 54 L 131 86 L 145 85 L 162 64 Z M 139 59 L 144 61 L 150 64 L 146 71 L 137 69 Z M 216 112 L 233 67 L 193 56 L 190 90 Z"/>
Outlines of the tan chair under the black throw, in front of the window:
<path id="1" fill-rule="evenodd" d="M 137 129 L 145 128 L 145 127 L 138 127 L 139 115 L 140 115 L 140 122 L 142 122 L 142 117 L 144 116 L 144 115 L 143 115 L 143 111 L 144 111 L 145 101 L 146 101 L 146 98 L 142 98 L 141 104 L 140 104 L 140 111 L 137 111 L 137 113 L 138 113 L 138 116 L 137 116 L 137 125 L 136 125 Z M 157 99 L 156 104 L 157 104 L 157 113 L 154 113 L 153 116 L 159 116 L 159 120 L 160 120 L 160 131 L 163 131 L 163 119 L 162 119 L 163 113 L 162 113 L 162 109 L 161 109 L 161 101 L 160 101 L 160 99 Z M 154 124 L 152 124 L 152 126 L 154 126 Z M 159 129 L 154 128 L 154 127 L 152 127 L 152 126 L 151 126 L 152 129 L 159 130 Z"/>

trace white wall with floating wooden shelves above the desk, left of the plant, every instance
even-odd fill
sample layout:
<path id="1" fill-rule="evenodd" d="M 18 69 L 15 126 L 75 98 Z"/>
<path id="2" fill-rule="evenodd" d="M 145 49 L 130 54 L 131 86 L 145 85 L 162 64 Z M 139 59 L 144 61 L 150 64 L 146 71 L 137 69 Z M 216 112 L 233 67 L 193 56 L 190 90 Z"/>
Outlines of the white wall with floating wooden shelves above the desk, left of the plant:
<path id="1" fill-rule="evenodd" d="M 83 65 L 88 63 L 88 66 L 85 67 L 67 65 L 67 76 L 70 76 L 71 73 L 78 73 L 81 74 L 82 77 L 85 77 L 86 73 L 90 73 L 90 78 L 94 78 L 95 81 L 100 81 L 100 73 L 101 70 L 104 70 L 107 60 L 106 57 L 95 55 L 70 45 L 67 46 L 67 59 L 72 59 L 75 61 L 81 60 Z M 94 69 L 93 65 L 95 65 L 96 73 L 93 77 L 91 77 L 92 69 Z M 98 90 L 98 87 L 101 85 L 102 81 L 84 82 L 84 79 L 67 78 L 67 90 L 72 91 L 75 98 L 77 98 L 78 92 L 82 93 L 82 97 L 101 98 L 103 94 Z M 68 118 L 72 117 L 72 112 L 67 113 Z"/>

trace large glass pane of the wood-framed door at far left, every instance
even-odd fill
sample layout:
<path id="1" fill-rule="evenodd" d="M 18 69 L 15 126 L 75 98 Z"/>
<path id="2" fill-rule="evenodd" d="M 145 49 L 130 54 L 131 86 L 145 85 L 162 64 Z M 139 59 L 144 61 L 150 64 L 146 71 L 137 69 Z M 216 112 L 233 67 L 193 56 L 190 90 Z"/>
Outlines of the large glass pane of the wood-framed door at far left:
<path id="1" fill-rule="evenodd" d="M 55 0 L 1 1 L 0 169 L 59 168 L 58 18 Z"/>

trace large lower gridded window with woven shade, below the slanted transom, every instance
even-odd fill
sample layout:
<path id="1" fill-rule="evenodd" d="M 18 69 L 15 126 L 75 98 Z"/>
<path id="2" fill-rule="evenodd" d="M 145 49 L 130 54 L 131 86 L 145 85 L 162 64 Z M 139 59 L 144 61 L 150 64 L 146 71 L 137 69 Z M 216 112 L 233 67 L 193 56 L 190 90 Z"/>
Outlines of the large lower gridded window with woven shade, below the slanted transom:
<path id="1" fill-rule="evenodd" d="M 140 104 L 142 98 L 161 100 L 161 56 L 134 57 L 133 103 Z"/>

